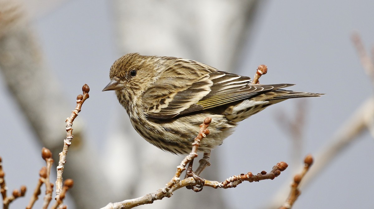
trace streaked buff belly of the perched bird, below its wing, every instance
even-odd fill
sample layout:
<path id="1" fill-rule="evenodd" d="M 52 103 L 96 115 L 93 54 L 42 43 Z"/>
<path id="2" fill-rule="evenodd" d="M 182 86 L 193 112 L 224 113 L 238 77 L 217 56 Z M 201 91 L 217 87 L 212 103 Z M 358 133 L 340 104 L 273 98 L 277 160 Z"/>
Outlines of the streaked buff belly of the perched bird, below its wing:
<path id="1" fill-rule="evenodd" d="M 149 143 L 162 150 L 175 154 L 187 154 L 191 152 L 194 138 L 199 134 L 200 127 L 206 117 L 211 117 L 209 134 L 201 140 L 200 152 L 208 152 L 222 144 L 236 124 L 227 121 L 223 115 L 212 113 L 199 113 L 181 116 L 172 120 L 157 120 L 140 123 L 139 120 L 131 120 L 135 130 Z"/>

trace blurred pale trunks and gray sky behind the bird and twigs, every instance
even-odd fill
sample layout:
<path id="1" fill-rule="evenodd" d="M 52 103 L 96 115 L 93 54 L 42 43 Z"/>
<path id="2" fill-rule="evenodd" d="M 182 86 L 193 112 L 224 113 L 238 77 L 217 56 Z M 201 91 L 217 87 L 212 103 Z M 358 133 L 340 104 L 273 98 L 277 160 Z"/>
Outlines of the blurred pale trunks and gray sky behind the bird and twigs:
<path id="1" fill-rule="evenodd" d="M 0 156 L 9 192 L 22 184 L 28 188 L 12 208 L 24 208 L 30 199 L 45 164 L 41 147 L 55 157 L 62 150 L 65 118 L 85 83 L 90 98 L 73 125 L 77 142 L 64 172 L 75 181 L 65 202 L 69 208 L 101 208 L 156 191 L 171 179 L 181 156 L 141 139 L 114 93 L 101 91 L 114 60 L 130 52 L 194 59 L 250 77 L 265 64 L 263 84 L 292 83 L 297 85 L 289 90 L 327 94 L 288 100 L 241 122 L 202 173 L 223 181 L 287 162 L 275 180 L 201 193 L 181 189 L 140 207 L 272 208 L 279 203 L 276 196 L 287 196 L 303 157 L 318 156 L 372 96 L 350 37 L 357 31 L 370 52 L 373 8 L 368 0 L 1 0 L 0 14 L 13 19 L 0 19 Z M 293 120 L 300 106 L 302 139 L 294 142 L 281 121 Z M 374 208 L 373 137 L 364 129 L 354 138 L 313 174 L 294 208 Z M 53 182 L 55 169 L 52 174 Z"/>

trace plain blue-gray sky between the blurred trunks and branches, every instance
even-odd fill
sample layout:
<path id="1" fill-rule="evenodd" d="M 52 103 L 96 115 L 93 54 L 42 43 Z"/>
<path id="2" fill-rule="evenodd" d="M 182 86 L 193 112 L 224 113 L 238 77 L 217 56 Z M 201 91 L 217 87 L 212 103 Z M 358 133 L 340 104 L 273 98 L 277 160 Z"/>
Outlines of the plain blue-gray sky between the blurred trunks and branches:
<path id="1" fill-rule="evenodd" d="M 253 77 L 257 66 L 266 64 L 269 71 L 260 80 L 263 84 L 292 83 L 297 85 L 290 90 L 327 94 L 307 99 L 309 110 L 302 156 L 317 153 L 353 111 L 372 95 L 373 87 L 361 67 L 350 35 L 358 31 L 367 50 L 374 45 L 373 8 L 374 1 L 368 0 L 267 1 L 261 15 L 257 16 L 254 36 L 248 40 L 235 72 Z M 83 106 L 79 119 L 86 121 L 88 138 L 99 154 L 105 146 L 105 137 L 113 122 L 111 118 L 120 111 L 125 112 L 113 93 L 101 92 L 109 81 L 111 64 L 122 55 L 116 51 L 112 13 L 110 1 L 67 1 L 33 22 L 46 62 L 71 98 L 68 101 L 71 109 L 82 85 L 90 86 L 90 99 Z M 215 63 L 206 64 L 215 66 Z M 3 98 L 0 156 L 7 185 L 10 191 L 20 184 L 28 186 L 27 199 L 17 200 L 13 205 L 13 208 L 21 208 L 28 202 L 44 163 L 40 158 L 40 145 L 7 91 L 3 78 L 0 79 L 0 97 Z M 294 116 L 296 103 L 297 100 L 282 102 L 243 121 L 237 131 L 214 150 L 222 159 L 219 180 L 248 171 L 270 171 L 279 161 L 294 163 L 291 141 L 277 124 L 275 114 L 285 111 L 290 117 Z M 144 146 L 151 145 L 144 141 Z M 362 135 L 302 191 L 295 208 L 374 208 L 373 148 L 373 138 L 368 133 Z M 217 162 L 218 159 L 212 159 L 213 164 Z M 225 190 L 227 201 L 233 200 L 230 204 L 234 208 L 266 205 L 279 187 L 290 181 L 294 174 L 292 168 L 301 163 L 302 159 L 297 165 L 290 164 L 288 170 L 273 181 L 243 183 Z M 35 176 L 25 175 L 25 172 Z M 165 183 L 160 182 L 159 188 Z"/>

